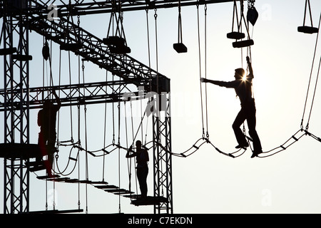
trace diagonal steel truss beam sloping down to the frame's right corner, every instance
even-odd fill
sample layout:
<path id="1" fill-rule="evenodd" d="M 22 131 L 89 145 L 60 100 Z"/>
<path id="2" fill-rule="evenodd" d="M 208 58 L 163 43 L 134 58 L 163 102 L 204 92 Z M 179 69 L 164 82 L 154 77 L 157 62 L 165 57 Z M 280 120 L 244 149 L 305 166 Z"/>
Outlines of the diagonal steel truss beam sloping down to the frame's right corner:
<path id="1" fill-rule="evenodd" d="M 136 86 L 148 86 L 151 78 L 161 77 L 160 73 L 145 64 L 128 56 L 127 54 L 113 54 L 101 38 L 94 36 L 80 26 L 73 24 L 66 18 L 47 21 L 40 16 L 32 16 L 29 28 L 61 45 L 61 48 L 71 48 L 76 55 L 95 63 L 100 68 L 105 68 L 114 75 L 123 78 L 127 83 Z M 73 44 L 78 48 L 73 49 Z M 62 47 L 63 46 L 63 47 Z"/>

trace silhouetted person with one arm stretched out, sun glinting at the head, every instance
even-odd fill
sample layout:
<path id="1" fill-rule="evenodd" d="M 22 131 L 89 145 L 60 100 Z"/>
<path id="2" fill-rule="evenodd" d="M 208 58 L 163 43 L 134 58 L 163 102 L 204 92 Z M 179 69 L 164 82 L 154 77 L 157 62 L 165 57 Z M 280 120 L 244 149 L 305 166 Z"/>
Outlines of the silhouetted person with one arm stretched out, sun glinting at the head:
<path id="1" fill-rule="evenodd" d="M 223 86 L 226 88 L 234 88 L 236 95 L 240 98 L 241 110 L 236 116 L 234 123 L 232 125 L 235 138 L 238 141 L 236 148 L 248 147 L 248 142 L 246 141 L 245 135 L 240 129 L 240 125 L 247 120 L 248 122 L 248 132 L 250 137 L 253 140 L 253 155 L 251 157 L 256 157 L 262 152 L 262 146 L 258 133 L 255 130 L 256 118 L 255 118 L 255 100 L 252 98 L 252 79 L 253 69 L 250 63 L 250 58 L 246 58 L 248 61 L 248 67 L 250 73 L 248 76 L 245 76 L 245 71 L 243 68 L 235 69 L 235 81 L 213 81 L 206 78 L 201 78 L 203 83 L 213 83 L 217 86 Z"/>

